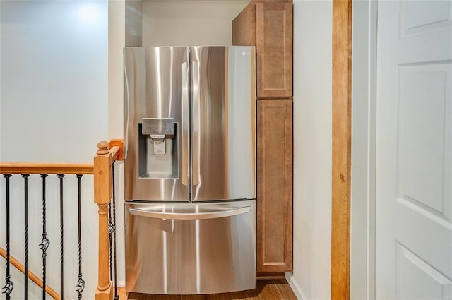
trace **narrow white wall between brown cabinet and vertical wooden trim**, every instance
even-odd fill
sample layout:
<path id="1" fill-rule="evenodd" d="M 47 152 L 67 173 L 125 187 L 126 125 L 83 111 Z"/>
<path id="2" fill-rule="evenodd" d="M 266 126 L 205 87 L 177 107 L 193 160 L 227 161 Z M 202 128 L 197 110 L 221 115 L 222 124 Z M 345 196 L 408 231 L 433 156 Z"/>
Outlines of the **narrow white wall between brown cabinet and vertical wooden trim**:
<path id="1" fill-rule="evenodd" d="M 294 1 L 294 268 L 299 299 L 331 298 L 331 1 Z"/>

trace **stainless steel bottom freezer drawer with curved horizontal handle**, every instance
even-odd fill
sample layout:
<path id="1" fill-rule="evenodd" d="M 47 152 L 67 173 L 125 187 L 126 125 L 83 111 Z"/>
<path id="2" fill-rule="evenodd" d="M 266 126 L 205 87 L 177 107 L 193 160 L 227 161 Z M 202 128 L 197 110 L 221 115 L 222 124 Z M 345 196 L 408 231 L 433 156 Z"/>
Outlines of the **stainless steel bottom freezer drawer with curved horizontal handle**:
<path id="1" fill-rule="evenodd" d="M 125 203 L 126 290 L 214 294 L 255 288 L 255 201 Z"/>

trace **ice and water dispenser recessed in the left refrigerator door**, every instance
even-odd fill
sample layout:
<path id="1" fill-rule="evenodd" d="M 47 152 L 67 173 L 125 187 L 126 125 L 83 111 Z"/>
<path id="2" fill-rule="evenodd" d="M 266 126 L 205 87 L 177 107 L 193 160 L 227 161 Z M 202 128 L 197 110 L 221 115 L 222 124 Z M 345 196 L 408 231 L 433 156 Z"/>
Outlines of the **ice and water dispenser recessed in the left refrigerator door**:
<path id="1" fill-rule="evenodd" d="M 177 123 L 173 118 L 143 118 L 139 127 L 138 175 L 177 178 Z"/>

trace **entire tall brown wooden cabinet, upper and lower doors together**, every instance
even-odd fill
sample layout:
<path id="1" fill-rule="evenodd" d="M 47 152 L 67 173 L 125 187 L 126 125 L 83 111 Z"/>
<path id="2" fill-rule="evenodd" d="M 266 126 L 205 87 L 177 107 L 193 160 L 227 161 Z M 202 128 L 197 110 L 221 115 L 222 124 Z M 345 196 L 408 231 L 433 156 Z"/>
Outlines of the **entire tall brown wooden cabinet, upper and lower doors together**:
<path id="1" fill-rule="evenodd" d="M 273 276 L 292 270 L 292 0 L 251 0 L 232 44 L 256 46 L 256 272 Z"/>

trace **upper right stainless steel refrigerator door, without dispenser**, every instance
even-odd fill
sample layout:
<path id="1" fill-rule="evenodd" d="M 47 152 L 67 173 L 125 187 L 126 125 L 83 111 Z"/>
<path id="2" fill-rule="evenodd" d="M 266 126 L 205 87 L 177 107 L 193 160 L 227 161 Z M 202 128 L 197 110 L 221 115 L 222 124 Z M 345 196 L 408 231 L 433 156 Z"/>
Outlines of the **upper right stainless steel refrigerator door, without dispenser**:
<path id="1" fill-rule="evenodd" d="M 191 47 L 192 200 L 256 198 L 254 47 Z"/>

